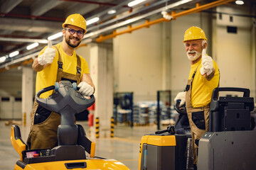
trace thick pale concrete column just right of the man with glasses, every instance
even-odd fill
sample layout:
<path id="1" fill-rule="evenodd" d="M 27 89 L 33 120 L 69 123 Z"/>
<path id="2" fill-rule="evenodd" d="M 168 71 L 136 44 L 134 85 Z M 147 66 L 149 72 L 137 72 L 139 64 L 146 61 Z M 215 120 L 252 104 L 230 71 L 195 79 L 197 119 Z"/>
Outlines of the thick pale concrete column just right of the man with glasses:
<path id="1" fill-rule="evenodd" d="M 110 137 L 113 114 L 112 43 L 90 45 L 90 74 L 95 84 L 95 115 L 91 135 L 95 136 L 95 118 L 100 119 L 100 137 Z"/>

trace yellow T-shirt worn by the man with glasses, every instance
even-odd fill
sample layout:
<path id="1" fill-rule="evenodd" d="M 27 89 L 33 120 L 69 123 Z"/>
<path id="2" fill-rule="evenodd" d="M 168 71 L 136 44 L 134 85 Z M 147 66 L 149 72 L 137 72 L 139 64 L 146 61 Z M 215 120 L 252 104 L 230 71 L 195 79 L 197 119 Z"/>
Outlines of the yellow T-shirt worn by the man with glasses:
<path id="1" fill-rule="evenodd" d="M 69 56 L 63 51 L 61 42 L 58 43 L 56 46 L 60 52 L 60 57 L 63 61 L 63 72 L 67 72 L 70 74 L 76 74 L 78 63 L 77 63 L 77 57 L 76 57 L 75 51 L 73 52 L 72 56 Z M 41 50 L 39 55 L 43 54 L 43 52 L 46 50 L 46 47 L 44 47 L 43 50 Z M 45 69 L 43 69 L 41 72 L 37 72 L 37 74 L 36 74 L 36 93 L 39 90 L 44 89 L 48 86 L 54 86 L 55 81 L 57 79 L 57 72 L 58 72 L 58 57 L 59 57 L 58 52 L 56 51 L 53 62 L 50 65 L 48 65 Z M 82 76 L 82 74 L 89 74 L 90 73 L 89 67 L 88 67 L 86 60 L 81 56 L 79 56 L 79 57 L 81 60 L 81 76 Z M 40 97 L 47 98 L 48 96 L 50 96 L 50 94 L 53 94 L 53 91 L 48 91 L 44 94 L 41 94 Z"/>

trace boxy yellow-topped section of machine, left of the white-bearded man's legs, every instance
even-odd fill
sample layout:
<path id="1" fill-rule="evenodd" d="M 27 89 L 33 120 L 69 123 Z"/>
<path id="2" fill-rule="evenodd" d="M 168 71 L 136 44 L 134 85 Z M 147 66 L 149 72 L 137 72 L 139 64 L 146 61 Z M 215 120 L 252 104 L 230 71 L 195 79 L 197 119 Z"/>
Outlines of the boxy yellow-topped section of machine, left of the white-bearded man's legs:
<path id="1" fill-rule="evenodd" d="M 144 135 L 139 146 L 139 170 L 186 169 L 188 135 Z"/>

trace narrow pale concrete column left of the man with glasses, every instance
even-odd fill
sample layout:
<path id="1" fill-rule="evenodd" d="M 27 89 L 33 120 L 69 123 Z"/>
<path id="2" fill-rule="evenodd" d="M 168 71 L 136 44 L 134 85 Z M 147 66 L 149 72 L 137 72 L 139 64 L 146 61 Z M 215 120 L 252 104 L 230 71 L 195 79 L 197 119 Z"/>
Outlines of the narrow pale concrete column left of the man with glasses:
<path id="1" fill-rule="evenodd" d="M 33 69 L 31 67 L 22 68 L 22 123 L 24 126 L 30 126 L 31 112 L 33 108 Z M 24 119 L 26 113 L 26 120 Z M 25 139 L 25 138 L 24 138 Z"/>

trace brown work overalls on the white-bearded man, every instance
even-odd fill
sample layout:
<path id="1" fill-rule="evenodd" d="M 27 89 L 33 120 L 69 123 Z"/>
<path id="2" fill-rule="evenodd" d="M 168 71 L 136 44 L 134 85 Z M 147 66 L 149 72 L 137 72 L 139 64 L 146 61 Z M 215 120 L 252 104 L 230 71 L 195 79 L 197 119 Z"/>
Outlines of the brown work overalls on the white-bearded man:
<path id="1" fill-rule="evenodd" d="M 196 68 L 197 70 L 197 68 Z M 196 70 L 191 79 L 188 80 L 186 86 L 186 111 L 188 113 L 188 120 L 191 127 L 191 136 L 193 142 L 193 164 L 197 164 L 198 159 L 198 143 L 203 134 L 209 130 L 209 111 L 210 106 L 203 106 L 201 108 L 193 108 L 191 104 L 192 82 L 196 75 Z"/>

